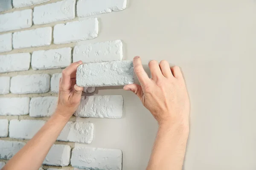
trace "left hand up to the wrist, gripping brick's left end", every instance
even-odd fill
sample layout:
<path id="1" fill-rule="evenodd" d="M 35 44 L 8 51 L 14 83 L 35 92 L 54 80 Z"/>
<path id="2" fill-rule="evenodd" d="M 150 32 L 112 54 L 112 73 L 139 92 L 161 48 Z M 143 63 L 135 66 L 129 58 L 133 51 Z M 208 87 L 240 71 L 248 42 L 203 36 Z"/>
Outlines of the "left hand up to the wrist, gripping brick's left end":
<path id="1" fill-rule="evenodd" d="M 76 69 L 82 62 L 74 62 L 62 71 L 56 113 L 67 119 L 75 113 L 81 100 L 83 87 L 76 85 Z"/>

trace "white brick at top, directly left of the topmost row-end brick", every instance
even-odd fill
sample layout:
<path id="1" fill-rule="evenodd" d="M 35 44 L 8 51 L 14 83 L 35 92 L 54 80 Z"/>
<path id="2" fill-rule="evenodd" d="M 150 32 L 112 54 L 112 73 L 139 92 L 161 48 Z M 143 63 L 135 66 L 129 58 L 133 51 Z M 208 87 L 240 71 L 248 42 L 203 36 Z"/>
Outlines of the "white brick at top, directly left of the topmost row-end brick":
<path id="1" fill-rule="evenodd" d="M 72 20 L 76 17 L 76 0 L 62 0 L 36 6 L 33 12 L 34 24 L 47 24 L 57 21 Z"/>

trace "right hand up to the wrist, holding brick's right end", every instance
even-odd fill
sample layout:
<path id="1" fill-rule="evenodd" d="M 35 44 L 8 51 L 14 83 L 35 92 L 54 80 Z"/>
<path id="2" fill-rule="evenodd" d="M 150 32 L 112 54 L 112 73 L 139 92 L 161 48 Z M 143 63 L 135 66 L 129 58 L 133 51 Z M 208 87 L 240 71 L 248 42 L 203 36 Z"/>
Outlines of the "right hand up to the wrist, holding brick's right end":
<path id="1" fill-rule="evenodd" d="M 158 64 L 152 60 L 148 63 L 152 78 L 143 69 L 140 57 L 134 57 L 134 71 L 140 84 L 125 85 L 142 101 L 158 124 L 179 124 L 189 127 L 189 96 L 180 68 L 170 68 L 165 60 Z"/>

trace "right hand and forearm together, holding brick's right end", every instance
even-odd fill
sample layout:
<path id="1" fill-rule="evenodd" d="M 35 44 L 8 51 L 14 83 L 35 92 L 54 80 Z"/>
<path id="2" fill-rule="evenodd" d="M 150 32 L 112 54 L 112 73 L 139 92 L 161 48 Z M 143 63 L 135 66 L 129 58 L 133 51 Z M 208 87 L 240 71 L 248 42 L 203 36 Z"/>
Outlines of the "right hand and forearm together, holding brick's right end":
<path id="1" fill-rule="evenodd" d="M 136 94 L 159 124 L 147 170 L 181 170 L 189 135 L 190 103 L 180 68 L 148 63 L 152 78 L 143 69 L 140 57 L 134 57 L 134 72 L 140 84 L 125 85 Z"/>

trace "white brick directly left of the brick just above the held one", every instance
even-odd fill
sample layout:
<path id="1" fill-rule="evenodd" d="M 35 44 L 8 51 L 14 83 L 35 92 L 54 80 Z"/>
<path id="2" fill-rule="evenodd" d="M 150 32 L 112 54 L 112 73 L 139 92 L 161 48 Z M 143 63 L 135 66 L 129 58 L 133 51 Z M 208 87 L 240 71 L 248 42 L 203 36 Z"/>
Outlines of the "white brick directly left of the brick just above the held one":
<path id="1" fill-rule="evenodd" d="M 33 70 L 65 68 L 71 64 L 72 48 L 34 51 L 31 57 Z"/>

